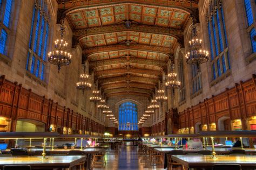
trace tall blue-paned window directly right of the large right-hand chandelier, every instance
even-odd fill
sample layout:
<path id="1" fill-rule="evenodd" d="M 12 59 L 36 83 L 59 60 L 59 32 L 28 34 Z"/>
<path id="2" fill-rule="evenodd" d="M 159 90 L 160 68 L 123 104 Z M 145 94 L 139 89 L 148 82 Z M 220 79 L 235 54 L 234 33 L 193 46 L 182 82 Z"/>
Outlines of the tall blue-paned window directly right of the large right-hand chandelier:
<path id="1" fill-rule="evenodd" d="M 207 22 L 211 49 L 212 79 L 215 80 L 230 69 L 227 34 L 221 1 L 210 1 Z"/>

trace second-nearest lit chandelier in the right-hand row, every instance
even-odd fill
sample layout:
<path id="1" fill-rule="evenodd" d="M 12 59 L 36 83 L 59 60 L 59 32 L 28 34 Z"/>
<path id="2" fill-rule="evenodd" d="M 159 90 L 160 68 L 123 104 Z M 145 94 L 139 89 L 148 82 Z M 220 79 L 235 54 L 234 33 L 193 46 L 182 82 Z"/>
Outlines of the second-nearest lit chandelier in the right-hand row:
<path id="1" fill-rule="evenodd" d="M 180 88 L 180 84 L 180 81 L 177 80 L 177 73 L 174 72 L 174 63 L 172 63 L 165 86 L 168 89 L 178 89 Z"/>

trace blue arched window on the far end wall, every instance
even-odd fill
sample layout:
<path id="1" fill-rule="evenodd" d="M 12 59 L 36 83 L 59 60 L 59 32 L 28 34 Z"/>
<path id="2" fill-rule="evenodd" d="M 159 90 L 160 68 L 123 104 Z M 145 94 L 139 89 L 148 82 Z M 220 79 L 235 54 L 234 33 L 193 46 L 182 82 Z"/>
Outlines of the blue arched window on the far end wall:
<path id="1" fill-rule="evenodd" d="M 127 123 L 130 125 L 127 126 Z M 119 105 L 119 128 L 118 130 L 138 130 L 138 107 L 132 102 Z"/>

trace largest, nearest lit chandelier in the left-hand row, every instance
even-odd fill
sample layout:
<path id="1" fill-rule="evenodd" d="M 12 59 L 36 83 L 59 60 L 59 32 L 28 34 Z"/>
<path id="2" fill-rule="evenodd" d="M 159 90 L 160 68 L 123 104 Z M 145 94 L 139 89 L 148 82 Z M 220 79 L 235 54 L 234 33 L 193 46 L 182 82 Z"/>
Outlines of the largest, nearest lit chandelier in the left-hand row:
<path id="1" fill-rule="evenodd" d="M 64 19 L 62 19 L 62 24 L 60 26 L 60 38 L 55 40 L 55 45 L 53 51 L 48 53 L 48 61 L 58 67 L 58 73 L 61 66 L 69 65 L 71 62 L 72 55 L 67 51 L 68 42 L 64 41 Z"/>

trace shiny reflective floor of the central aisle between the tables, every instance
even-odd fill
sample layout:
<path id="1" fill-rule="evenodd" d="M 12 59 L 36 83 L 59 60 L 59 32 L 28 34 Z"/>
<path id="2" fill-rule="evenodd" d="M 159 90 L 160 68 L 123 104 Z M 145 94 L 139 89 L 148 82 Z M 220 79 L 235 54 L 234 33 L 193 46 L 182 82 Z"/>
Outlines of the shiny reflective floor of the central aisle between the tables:
<path id="1" fill-rule="evenodd" d="M 151 165 L 147 155 L 139 151 L 138 146 L 124 146 L 119 150 L 107 150 L 106 165 L 95 165 L 93 169 L 164 169 L 164 165 Z"/>

